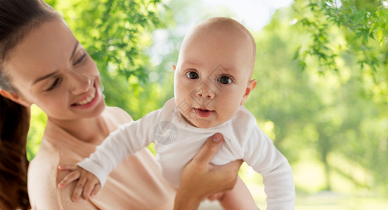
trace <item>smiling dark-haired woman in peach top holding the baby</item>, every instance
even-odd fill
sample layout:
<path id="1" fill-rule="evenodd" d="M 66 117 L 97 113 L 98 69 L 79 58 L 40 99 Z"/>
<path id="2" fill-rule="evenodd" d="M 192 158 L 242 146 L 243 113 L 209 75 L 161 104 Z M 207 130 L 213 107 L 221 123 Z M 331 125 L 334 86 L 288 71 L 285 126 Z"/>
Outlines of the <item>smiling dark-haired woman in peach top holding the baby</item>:
<path id="1" fill-rule="evenodd" d="M 175 200 L 175 190 L 143 150 L 122 162 L 96 197 L 72 202 L 75 186 L 56 187 L 69 172 L 54 169 L 88 157 L 131 117 L 105 106 L 96 64 L 53 8 L 41 0 L 0 5 L 1 209 L 196 209 L 204 197 L 233 187 L 241 161 L 209 165 L 222 142 L 216 134 L 183 170 Z M 31 104 L 46 113 L 47 125 L 28 169 L 29 203 L 25 141 Z"/>

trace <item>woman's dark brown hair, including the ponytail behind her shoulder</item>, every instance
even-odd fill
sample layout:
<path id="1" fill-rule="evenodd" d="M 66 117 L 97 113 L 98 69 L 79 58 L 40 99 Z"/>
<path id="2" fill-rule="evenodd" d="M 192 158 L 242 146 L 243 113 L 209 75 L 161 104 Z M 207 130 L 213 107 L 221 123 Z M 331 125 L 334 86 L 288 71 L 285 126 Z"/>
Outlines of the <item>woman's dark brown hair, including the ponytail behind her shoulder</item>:
<path id="1" fill-rule="evenodd" d="M 34 28 L 60 15 L 42 0 L 0 0 L 0 89 L 18 94 L 4 63 Z M 26 156 L 30 110 L 0 96 L 0 209 L 30 209 Z"/>

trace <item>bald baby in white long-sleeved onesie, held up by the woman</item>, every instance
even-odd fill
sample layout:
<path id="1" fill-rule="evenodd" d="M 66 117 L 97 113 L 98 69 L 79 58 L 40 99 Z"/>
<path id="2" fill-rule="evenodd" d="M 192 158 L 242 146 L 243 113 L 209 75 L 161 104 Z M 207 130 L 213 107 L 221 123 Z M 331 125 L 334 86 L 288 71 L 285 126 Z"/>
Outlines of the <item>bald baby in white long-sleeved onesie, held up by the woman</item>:
<path id="1" fill-rule="evenodd" d="M 78 163 L 79 174 L 94 174 L 82 175 L 79 181 L 89 177 L 89 186 L 102 187 L 119 162 L 154 142 L 162 173 L 177 188 L 183 167 L 208 137 L 220 132 L 225 142 L 211 162 L 224 165 L 243 159 L 263 176 L 267 209 L 294 209 L 292 169 L 243 106 L 257 85 L 251 80 L 255 56 L 252 34 L 235 20 L 209 18 L 190 29 L 173 66 L 175 97 L 162 109 L 112 132 L 90 158 Z M 93 188 L 87 190 L 90 195 Z M 221 204 L 225 209 L 257 209 L 240 180 L 224 193 Z"/>

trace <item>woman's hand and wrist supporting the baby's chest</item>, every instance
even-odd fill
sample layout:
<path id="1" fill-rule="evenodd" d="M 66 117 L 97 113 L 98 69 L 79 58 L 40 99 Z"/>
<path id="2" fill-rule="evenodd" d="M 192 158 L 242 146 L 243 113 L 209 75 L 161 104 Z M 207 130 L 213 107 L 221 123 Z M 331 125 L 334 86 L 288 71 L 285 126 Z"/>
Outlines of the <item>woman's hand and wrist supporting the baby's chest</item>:
<path id="1" fill-rule="evenodd" d="M 221 134 L 214 134 L 183 169 L 174 210 L 198 209 L 200 202 L 206 197 L 233 188 L 243 160 L 235 160 L 222 166 L 209 164 L 223 141 Z"/>

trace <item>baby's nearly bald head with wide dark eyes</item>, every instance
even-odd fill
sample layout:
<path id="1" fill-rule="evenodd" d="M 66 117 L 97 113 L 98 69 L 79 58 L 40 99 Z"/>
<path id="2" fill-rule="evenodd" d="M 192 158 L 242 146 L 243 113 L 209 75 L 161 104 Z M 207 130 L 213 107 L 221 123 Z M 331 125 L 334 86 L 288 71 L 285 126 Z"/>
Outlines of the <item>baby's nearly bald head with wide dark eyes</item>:
<path id="1" fill-rule="evenodd" d="M 209 18 L 190 29 L 174 66 L 174 94 L 185 120 L 214 127 L 230 120 L 256 86 L 252 34 L 231 18 Z"/>

